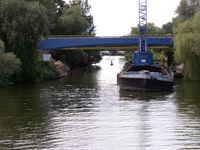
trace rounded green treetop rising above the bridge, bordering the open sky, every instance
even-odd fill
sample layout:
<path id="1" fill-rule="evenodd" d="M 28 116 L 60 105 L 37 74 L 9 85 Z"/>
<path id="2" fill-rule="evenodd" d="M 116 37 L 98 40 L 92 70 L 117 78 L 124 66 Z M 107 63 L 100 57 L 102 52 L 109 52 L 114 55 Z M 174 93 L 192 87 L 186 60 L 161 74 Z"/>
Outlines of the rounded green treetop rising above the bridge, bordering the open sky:
<path id="1" fill-rule="evenodd" d="M 53 34 L 94 35 L 93 17 L 89 11 L 90 6 L 87 1 L 71 1 L 58 17 Z"/>

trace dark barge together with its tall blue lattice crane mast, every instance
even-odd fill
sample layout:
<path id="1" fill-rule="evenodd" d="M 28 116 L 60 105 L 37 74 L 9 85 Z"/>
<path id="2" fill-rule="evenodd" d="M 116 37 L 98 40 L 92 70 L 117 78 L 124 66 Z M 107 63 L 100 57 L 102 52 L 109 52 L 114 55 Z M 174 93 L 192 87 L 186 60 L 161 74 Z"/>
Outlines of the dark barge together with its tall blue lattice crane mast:
<path id="1" fill-rule="evenodd" d="M 147 0 L 139 0 L 139 48 L 132 60 L 117 75 L 120 89 L 143 91 L 166 91 L 173 89 L 174 73 L 153 61 L 147 43 Z"/>

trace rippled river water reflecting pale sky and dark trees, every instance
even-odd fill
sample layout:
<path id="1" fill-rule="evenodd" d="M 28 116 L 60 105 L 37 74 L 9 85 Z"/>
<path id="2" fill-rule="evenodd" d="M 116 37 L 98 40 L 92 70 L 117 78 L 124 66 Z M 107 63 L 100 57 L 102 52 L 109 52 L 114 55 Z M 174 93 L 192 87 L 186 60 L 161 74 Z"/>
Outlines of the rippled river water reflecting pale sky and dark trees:
<path id="1" fill-rule="evenodd" d="M 0 149 L 200 149 L 200 84 L 120 91 L 123 64 L 106 56 L 67 78 L 1 88 Z"/>

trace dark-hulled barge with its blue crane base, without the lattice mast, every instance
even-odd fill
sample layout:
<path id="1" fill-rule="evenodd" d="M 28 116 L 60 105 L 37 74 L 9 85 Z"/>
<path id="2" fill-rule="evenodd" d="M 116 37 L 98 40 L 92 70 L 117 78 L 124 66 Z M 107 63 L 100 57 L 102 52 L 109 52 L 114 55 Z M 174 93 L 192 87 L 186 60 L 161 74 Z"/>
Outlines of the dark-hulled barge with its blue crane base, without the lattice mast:
<path id="1" fill-rule="evenodd" d="M 170 91 L 174 85 L 174 73 L 163 65 L 153 63 L 150 52 L 136 52 L 134 59 L 125 64 L 117 75 L 121 90 Z"/>

